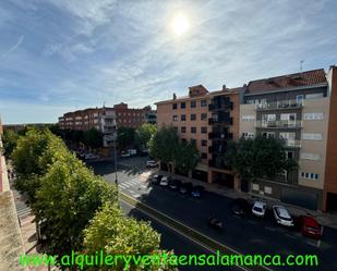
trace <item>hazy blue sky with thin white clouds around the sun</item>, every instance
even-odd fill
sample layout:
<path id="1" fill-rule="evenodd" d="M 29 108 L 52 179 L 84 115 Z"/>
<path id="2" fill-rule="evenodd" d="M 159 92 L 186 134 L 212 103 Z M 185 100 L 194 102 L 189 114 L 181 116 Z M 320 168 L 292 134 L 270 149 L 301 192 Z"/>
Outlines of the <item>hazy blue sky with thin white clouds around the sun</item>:
<path id="1" fill-rule="evenodd" d="M 337 64 L 335 0 L 1 0 L 2 123 Z M 183 17 L 178 35 L 174 20 Z"/>

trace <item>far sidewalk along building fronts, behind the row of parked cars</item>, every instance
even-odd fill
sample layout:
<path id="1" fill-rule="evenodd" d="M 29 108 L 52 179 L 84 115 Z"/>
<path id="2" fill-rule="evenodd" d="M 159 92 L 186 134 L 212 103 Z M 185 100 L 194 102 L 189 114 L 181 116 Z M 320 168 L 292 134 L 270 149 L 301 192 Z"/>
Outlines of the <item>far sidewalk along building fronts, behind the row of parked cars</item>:
<path id="1" fill-rule="evenodd" d="M 322 211 L 309 210 L 309 209 L 305 209 L 299 206 L 293 206 L 293 205 L 281 202 L 278 199 L 260 196 L 260 195 L 252 194 L 252 193 L 243 193 L 243 192 L 233 190 L 233 189 L 224 187 L 222 185 L 219 185 L 219 184 L 208 184 L 208 183 L 205 183 L 198 180 L 168 173 L 166 171 L 160 171 L 160 174 L 164 174 L 164 175 L 169 174 L 174 178 L 181 180 L 182 182 L 191 182 L 194 185 L 202 185 L 205 187 L 206 190 L 218 194 L 227 198 L 232 198 L 232 199 L 244 198 L 251 204 L 253 204 L 256 199 L 263 199 L 263 201 L 265 201 L 268 207 L 272 207 L 274 205 L 282 205 L 287 207 L 288 211 L 294 217 L 302 215 L 302 214 L 310 214 L 314 217 L 322 225 L 329 226 L 329 227 L 337 230 L 337 213 L 330 214 L 330 213 L 324 213 Z"/>

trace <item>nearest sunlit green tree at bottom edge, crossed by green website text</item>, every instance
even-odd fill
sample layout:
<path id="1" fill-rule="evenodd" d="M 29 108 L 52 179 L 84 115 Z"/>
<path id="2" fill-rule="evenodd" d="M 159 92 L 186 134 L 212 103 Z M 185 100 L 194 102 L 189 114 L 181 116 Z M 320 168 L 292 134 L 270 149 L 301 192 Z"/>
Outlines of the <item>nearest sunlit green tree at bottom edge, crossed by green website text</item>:
<path id="1" fill-rule="evenodd" d="M 84 231 L 86 254 L 95 254 L 104 249 L 106 255 L 160 255 L 165 251 L 159 249 L 159 244 L 160 235 L 151 227 L 149 223 L 125 218 L 116 205 L 105 205 Z M 99 267 L 99 270 L 177 270 L 163 264 L 144 267 L 131 263 L 129 268 L 124 268 L 124 264 L 120 263 L 112 267 Z"/>

